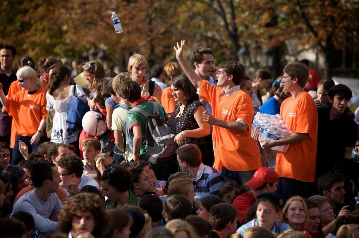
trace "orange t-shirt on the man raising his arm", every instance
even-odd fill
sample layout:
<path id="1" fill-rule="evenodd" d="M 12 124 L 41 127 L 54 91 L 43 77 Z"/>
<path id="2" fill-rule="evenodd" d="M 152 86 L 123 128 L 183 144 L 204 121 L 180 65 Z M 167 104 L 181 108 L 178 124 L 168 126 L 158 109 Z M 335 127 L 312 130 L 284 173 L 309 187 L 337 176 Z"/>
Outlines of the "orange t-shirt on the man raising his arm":
<path id="1" fill-rule="evenodd" d="M 219 120 L 244 121 L 252 126 L 253 103 L 247 93 L 239 90 L 231 95 L 221 93 L 222 88 L 212 86 L 202 80 L 200 97 L 212 105 L 213 116 Z M 250 171 L 262 167 L 257 142 L 252 139 L 251 131 L 244 133 L 213 126 L 216 150 L 214 167 L 222 170 L 222 164 L 231 171 Z"/>

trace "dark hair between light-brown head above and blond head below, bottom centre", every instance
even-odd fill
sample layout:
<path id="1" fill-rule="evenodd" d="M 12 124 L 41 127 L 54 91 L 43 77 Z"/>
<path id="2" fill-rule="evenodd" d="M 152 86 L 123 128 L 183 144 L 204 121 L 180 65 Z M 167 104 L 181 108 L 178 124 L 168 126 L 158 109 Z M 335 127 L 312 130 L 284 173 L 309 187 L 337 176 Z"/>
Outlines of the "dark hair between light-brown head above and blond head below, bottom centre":
<path id="1" fill-rule="evenodd" d="M 192 214 L 191 203 L 185 196 L 174 194 L 169 196 L 163 203 L 163 218 L 169 220 L 182 219 Z"/>

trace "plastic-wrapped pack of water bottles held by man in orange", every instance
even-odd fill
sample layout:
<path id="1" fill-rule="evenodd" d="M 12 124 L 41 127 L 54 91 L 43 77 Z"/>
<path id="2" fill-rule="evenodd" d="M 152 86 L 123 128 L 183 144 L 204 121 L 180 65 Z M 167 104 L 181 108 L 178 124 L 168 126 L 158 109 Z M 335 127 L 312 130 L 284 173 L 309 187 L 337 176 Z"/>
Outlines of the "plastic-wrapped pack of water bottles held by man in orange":
<path id="1" fill-rule="evenodd" d="M 259 128 L 259 138 L 269 140 L 279 140 L 292 134 L 293 132 L 285 125 L 282 117 L 279 114 L 270 115 L 266 113 L 257 112 L 253 118 L 252 131 L 255 127 Z M 272 147 L 272 150 L 286 152 L 289 145 Z"/>

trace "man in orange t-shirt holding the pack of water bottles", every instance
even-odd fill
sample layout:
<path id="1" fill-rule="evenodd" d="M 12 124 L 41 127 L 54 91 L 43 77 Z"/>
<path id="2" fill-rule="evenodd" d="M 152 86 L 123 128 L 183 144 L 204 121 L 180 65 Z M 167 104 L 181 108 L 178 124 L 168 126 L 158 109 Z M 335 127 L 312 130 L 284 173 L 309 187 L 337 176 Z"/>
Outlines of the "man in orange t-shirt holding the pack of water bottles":
<path id="1" fill-rule="evenodd" d="M 275 165 L 281 177 L 277 192 L 286 199 L 293 195 L 312 195 L 308 193 L 315 181 L 318 112 L 313 98 L 304 91 L 308 75 L 308 67 L 303 63 L 284 67 L 281 83 L 292 97 L 283 101 L 280 116 L 293 134 L 276 141 L 260 140 L 264 149 L 290 145 L 286 152 L 278 152 Z"/>

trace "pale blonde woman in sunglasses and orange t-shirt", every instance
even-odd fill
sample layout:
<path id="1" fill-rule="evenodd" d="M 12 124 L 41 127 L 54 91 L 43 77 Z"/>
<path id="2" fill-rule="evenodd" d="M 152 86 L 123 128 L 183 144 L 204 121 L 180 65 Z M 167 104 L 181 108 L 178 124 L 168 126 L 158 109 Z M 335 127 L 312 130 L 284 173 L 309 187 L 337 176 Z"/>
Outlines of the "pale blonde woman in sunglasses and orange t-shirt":
<path id="1" fill-rule="evenodd" d="M 5 97 L 3 85 L 0 84 L 0 101 L 6 111 L 13 116 L 18 136 L 15 140 L 11 164 L 22 159 L 19 151 L 19 140 L 28 146 L 28 152 L 36 151 L 39 145 L 47 140 L 46 126 L 46 90 L 36 72 L 29 66 L 21 67 L 17 74 L 21 91 L 9 98 Z"/>

